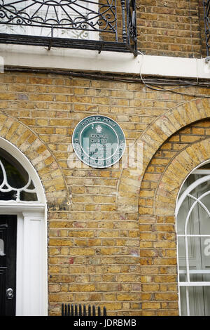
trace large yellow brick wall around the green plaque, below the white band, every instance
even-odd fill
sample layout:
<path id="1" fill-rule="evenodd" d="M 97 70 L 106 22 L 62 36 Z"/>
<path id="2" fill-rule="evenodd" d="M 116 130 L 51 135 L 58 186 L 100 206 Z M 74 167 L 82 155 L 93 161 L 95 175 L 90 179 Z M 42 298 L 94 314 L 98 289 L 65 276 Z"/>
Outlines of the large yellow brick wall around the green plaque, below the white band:
<path id="1" fill-rule="evenodd" d="M 108 315 L 177 315 L 174 218 L 154 212 L 155 192 L 172 157 L 209 136 L 209 122 L 182 128 L 169 140 L 162 133 L 167 141 L 147 166 L 140 194 L 127 185 L 132 173 L 123 172 L 122 161 L 109 169 L 76 169 L 68 159 L 73 128 L 90 114 L 116 120 L 129 145 L 158 117 L 176 108 L 185 114 L 195 98 L 62 74 L 5 72 L 0 81 L 0 135 L 34 161 L 47 192 L 49 315 L 59 315 L 63 302 L 106 305 Z M 181 92 L 209 93 L 195 87 Z M 202 112 L 208 101 L 199 99 Z M 179 121 L 187 123 L 185 117 Z M 34 153 L 30 146 L 36 139 Z M 130 199 L 137 199 L 139 209 L 129 208 Z"/>

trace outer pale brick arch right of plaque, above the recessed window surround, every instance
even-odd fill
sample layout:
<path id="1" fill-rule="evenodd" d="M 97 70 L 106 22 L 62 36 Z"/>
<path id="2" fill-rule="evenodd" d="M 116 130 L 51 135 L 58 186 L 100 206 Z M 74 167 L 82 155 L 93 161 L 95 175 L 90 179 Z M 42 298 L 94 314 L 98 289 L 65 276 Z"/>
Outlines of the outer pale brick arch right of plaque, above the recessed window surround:
<path id="1" fill-rule="evenodd" d="M 155 152 L 176 131 L 195 121 L 209 117 L 210 100 L 200 98 L 168 110 L 148 126 L 134 146 L 134 159 L 137 159 L 137 147 L 143 145 L 142 166 L 135 170 L 123 169 L 121 172 L 118 185 L 118 210 L 124 212 L 138 211 L 141 182 Z"/>

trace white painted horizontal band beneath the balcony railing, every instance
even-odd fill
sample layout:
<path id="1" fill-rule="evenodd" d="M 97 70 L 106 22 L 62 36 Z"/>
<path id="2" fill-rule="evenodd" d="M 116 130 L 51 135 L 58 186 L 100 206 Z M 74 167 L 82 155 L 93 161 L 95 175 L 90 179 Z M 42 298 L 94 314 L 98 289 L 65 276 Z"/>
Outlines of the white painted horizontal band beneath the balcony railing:
<path id="1" fill-rule="evenodd" d="M 40 46 L 0 46 L 4 65 L 59 70 L 102 71 L 158 77 L 210 78 L 210 62 L 205 59 L 174 58 L 132 53 L 88 51 Z"/>

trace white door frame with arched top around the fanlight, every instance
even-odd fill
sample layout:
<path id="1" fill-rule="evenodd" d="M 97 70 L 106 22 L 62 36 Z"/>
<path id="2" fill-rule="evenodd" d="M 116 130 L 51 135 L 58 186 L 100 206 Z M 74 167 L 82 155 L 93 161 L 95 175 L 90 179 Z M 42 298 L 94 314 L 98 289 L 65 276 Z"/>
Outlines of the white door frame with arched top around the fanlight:
<path id="1" fill-rule="evenodd" d="M 48 315 L 47 204 L 38 173 L 7 140 L 0 147 L 12 154 L 31 176 L 37 202 L 0 201 L 0 214 L 17 215 L 16 315 Z"/>

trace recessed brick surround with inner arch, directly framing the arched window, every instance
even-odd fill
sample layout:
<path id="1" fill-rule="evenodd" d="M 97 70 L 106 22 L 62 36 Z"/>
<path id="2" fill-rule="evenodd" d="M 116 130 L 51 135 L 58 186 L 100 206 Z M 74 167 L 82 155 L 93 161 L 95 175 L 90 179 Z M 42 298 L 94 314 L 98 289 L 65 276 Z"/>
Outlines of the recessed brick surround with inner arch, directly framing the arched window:
<path id="1" fill-rule="evenodd" d="M 181 136 L 186 139 L 181 141 Z M 167 154 L 169 150 L 174 154 Z M 167 139 L 146 169 L 139 194 L 143 315 L 179 315 L 176 199 L 188 175 L 209 159 L 210 120 L 206 119 L 182 128 Z M 142 206 L 144 201 L 146 204 Z M 152 295 L 154 301 L 150 305 Z"/>

